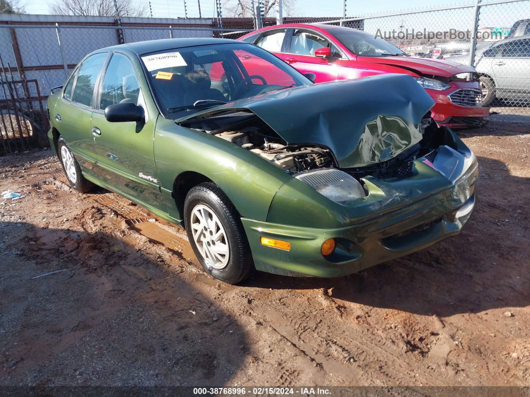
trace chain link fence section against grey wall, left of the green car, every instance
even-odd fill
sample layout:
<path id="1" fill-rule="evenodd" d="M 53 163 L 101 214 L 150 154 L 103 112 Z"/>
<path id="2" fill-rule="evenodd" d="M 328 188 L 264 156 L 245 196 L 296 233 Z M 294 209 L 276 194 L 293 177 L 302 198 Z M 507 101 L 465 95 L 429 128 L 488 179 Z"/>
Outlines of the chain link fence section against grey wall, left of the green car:
<path id="1" fill-rule="evenodd" d="M 232 31 L 211 25 L 0 25 L 0 154 L 47 145 L 46 98 L 90 52 L 119 43 L 222 37 Z"/>

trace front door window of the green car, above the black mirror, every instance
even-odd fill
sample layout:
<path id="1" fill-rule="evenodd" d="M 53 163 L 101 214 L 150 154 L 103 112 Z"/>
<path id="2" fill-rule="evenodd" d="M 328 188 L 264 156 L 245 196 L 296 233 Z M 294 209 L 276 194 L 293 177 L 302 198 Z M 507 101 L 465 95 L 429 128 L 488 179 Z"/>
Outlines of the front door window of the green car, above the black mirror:
<path id="1" fill-rule="evenodd" d="M 140 86 L 133 64 L 122 54 L 114 54 L 110 59 L 101 87 L 100 109 L 122 102 L 138 102 Z"/>

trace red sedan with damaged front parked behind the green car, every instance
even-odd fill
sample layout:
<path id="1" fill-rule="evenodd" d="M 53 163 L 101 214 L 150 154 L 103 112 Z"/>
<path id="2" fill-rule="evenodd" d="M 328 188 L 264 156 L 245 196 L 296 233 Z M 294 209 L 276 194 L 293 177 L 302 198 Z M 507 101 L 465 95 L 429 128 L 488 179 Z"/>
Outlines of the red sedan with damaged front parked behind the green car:
<path id="1" fill-rule="evenodd" d="M 479 75 L 473 67 L 409 57 L 360 30 L 297 23 L 263 28 L 238 40 L 272 52 L 302 73 L 314 73 L 316 83 L 382 73 L 411 75 L 435 100 L 432 118 L 439 125 L 476 126 L 489 116 L 489 108 L 480 106 Z"/>

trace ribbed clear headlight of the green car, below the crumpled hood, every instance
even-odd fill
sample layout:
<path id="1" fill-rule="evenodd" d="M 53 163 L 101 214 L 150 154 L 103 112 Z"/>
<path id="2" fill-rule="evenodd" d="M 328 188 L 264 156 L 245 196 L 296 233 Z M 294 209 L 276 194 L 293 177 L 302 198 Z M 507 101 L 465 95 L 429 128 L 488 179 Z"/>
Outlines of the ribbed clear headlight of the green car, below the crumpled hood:
<path id="1" fill-rule="evenodd" d="M 322 196 L 341 205 L 366 197 L 360 182 L 344 171 L 314 170 L 301 172 L 295 175 L 295 178 L 311 186 Z"/>

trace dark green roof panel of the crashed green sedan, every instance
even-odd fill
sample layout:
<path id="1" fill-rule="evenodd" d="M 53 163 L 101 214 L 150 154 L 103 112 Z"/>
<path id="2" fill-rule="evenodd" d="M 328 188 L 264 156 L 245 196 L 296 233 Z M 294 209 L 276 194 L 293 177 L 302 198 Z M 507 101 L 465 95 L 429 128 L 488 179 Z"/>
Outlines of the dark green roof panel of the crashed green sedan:
<path id="1" fill-rule="evenodd" d="M 148 40 L 148 41 L 137 41 L 134 43 L 125 43 L 117 46 L 111 46 L 102 48 L 103 50 L 114 50 L 114 49 L 128 49 L 136 52 L 138 55 L 148 54 L 149 52 L 157 52 L 169 49 L 193 47 L 193 46 L 205 46 L 209 44 L 228 44 L 238 43 L 241 41 L 231 39 L 216 39 L 212 37 L 197 37 L 187 39 L 159 39 L 159 40 Z"/>

